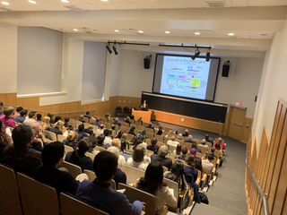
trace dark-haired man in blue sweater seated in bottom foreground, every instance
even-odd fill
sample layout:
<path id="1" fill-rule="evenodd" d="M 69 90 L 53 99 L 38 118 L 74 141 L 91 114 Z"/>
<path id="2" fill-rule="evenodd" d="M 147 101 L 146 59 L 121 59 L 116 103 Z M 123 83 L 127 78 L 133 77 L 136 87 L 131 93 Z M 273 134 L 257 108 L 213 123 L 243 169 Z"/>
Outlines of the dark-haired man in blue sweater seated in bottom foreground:
<path id="1" fill-rule="evenodd" d="M 110 188 L 111 180 L 117 174 L 115 154 L 107 150 L 100 151 L 93 161 L 93 170 L 97 178 L 92 182 L 84 180 L 78 187 L 77 197 L 99 206 L 110 215 L 142 213 L 142 202 L 135 201 L 131 204 L 124 193 Z"/>

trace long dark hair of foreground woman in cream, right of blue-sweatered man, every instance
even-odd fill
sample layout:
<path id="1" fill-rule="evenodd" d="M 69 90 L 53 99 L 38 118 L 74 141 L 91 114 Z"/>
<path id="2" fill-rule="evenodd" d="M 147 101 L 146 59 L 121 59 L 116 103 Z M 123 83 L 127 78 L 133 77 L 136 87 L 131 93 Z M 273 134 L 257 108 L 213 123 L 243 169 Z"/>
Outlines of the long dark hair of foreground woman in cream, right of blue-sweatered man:
<path id="1" fill-rule="evenodd" d="M 155 194 L 162 186 L 166 186 L 163 183 L 163 168 L 158 161 L 153 160 L 146 168 L 144 177 L 141 177 L 137 188 Z"/>

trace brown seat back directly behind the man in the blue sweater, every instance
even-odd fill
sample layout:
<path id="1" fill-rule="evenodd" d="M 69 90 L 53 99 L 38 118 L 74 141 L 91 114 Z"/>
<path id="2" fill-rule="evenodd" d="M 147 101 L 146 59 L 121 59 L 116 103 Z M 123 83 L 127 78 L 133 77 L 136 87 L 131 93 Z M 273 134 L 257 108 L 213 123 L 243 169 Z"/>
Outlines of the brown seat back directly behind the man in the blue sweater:
<path id="1" fill-rule="evenodd" d="M 100 211 L 66 193 L 60 193 L 60 201 L 62 215 L 108 215 L 108 213 Z"/>

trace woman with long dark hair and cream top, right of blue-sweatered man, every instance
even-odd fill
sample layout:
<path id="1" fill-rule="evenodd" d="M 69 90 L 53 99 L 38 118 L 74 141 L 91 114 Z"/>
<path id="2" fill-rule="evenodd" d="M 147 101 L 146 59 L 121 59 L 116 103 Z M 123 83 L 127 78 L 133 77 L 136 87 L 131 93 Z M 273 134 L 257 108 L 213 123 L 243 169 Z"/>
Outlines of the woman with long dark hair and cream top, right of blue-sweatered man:
<path id="1" fill-rule="evenodd" d="M 152 161 L 148 165 L 144 177 L 137 179 L 135 187 L 156 197 L 157 211 L 160 211 L 166 203 L 171 207 L 177 206 L 177 199 L 163 182 L 163 168 L 157 161 Z"/>

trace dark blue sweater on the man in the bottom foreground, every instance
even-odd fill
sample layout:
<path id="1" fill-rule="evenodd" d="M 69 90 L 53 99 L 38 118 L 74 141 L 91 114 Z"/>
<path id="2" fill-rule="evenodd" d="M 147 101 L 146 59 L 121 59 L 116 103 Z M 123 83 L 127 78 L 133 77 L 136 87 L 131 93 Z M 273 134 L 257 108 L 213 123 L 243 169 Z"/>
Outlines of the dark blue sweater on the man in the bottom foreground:
<path id="1" fill-rule="evenodd" d="M 76 196 L 99 206 L 109 212 L 110 215 L 140 215 L 143 210 L 142 202 L 136 200 L 132 204 L 127 200 L 124 193 L 113 190 L 109 184 L 97 181 L 84 180 L 78 186 Z"/>

